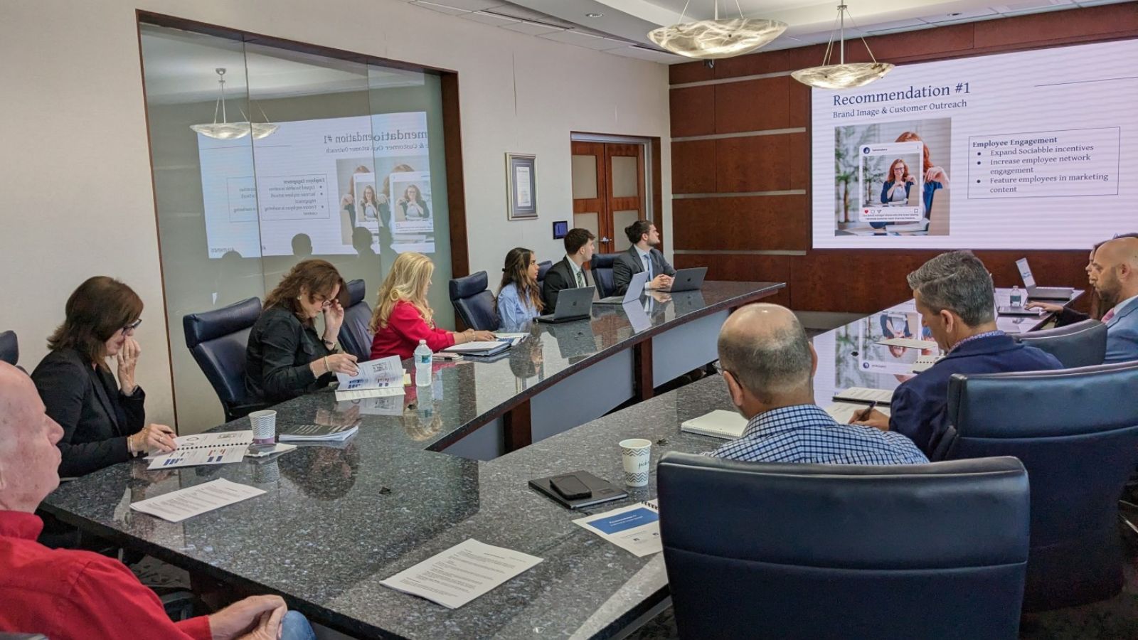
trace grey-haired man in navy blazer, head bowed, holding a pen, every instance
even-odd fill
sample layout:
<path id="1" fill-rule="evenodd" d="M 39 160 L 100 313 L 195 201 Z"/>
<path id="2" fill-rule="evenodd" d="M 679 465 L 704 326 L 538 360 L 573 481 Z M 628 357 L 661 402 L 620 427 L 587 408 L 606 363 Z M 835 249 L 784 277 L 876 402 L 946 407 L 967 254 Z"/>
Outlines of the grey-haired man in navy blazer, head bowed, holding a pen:
<path id="1" fill-rule="evenodd" d="M 908 436 L 926 456 L 948 430 L 948 379 L 953 374 L 1062 369 L 1054 355 L 996 328 L 991 276 L 972 252 L 938 255 L 908 276 L 922 321 L 947 354 L 893 391 L 890 415 L 874 410 L 850 420 Z"/>

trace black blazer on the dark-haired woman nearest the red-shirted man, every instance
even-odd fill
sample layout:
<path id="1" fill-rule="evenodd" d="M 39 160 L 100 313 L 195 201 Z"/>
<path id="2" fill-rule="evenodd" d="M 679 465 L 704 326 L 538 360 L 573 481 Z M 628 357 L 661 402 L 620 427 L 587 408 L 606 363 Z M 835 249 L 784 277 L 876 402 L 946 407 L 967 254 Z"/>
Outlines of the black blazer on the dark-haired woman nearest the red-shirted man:
<path id="1" fill-rule="evenodd" d="M 59 475 L 75 477 L 130 460 L 126 437 L 146 422 L 146 393 L 124 395 L 110 371 L 74 348 L 49 353 L 32 372 L 48 417 L 64 428 Z"/>

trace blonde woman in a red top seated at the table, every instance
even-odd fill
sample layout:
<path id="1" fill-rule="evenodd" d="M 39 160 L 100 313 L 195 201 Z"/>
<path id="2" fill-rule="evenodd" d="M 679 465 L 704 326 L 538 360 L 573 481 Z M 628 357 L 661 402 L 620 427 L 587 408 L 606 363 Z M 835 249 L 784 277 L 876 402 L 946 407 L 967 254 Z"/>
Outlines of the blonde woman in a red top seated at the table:
<path id="1" fill-rule="evenodd" d="M 427 340 L 431 351 L 442 351 L 455 344 L 493 340 L 489 331 L 447 331 L 435 327 L 427 303 L 427 290 L 435 265 L 421 253 L 402 253 L 395 259 L 390 273 L 379 287 L 379 300 L 371 317 L 371 359 L 398 355 L 411 358 L 419 340 Z"/>

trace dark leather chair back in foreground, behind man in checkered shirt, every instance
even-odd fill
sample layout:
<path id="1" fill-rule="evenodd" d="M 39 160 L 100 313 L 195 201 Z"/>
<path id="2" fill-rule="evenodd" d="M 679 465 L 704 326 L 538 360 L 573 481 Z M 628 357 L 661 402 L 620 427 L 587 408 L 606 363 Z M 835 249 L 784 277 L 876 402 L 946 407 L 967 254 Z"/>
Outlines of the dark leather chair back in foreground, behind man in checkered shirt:
<path id="1" fill-rule="evenodd" d="M 1028 474 L 669 452 L 660 533 L 681 638 L 1016 638 Z"/>

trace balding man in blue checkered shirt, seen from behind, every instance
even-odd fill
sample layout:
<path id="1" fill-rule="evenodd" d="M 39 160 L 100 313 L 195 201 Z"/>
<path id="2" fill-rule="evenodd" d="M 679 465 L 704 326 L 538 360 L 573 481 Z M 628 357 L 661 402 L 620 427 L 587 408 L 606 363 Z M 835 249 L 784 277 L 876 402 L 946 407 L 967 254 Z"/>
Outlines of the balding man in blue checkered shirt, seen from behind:
<path id="1" fill-rule="evenodd" d="M 719 364 L 731 401 L 748 419 L 743 436 L 711 452 L 753 462 L 921 465 L 913 441 L 842 425 L 814 403 L 818 354 L 802 325 L 777 304 L 751 304 L 719 331 Z"/>

